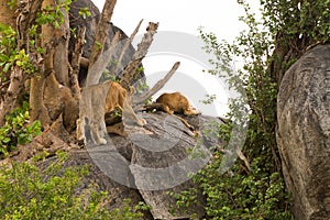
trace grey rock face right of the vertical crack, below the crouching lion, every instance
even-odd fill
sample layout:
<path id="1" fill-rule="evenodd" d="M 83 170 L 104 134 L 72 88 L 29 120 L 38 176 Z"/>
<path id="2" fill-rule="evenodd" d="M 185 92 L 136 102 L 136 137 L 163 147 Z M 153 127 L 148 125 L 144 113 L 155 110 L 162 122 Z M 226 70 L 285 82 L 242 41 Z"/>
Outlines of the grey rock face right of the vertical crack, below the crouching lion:
<path id="1" fill-rule="evenodd" d="M 150 113 L 144 119 L 151 124 L 153 134 L 147 138 L 131 135 L 134 146 L 130 169 L 142 198 L 152 207 L 154 219 L 189 219 L 193 213 L 196 215 L 195 218 L 202 219 L 205 212 L 201 195 L 197 198 L 197 204 L 187 209 L 177 209 L 174 197 L 167 193 L 179 194 L 189 188 L 197 189 L 189 175 L 208 164 L 211 157 L 209 148 L 219 143 L 217 135 L 212 135 L 212 143 L 207 138 L 196 139 L 182 121 L 166 113 Z M 216 132 L 218 127 L 209 122 L 221 123 L 220 120 L 207 117 L 188 120 L 198 130 Z M 188 152 L 194 148 L 197 150 L 196 155 L 189 155 Z"/>

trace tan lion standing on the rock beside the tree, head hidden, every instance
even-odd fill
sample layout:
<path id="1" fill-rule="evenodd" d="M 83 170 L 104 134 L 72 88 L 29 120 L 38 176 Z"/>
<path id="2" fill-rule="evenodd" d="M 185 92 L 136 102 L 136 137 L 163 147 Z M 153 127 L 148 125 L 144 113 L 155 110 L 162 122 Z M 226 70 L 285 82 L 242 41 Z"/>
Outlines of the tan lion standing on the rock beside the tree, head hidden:
<path id="1" fill-rule="evenodd" d="M 145 120 L 139 119 L 132 109 L 133 94 L 133 88 L 131 88 L 131 92 L 128 92 L 127 89 L 111 80 L 84 88 L 79 119 L 77 120 L 78 141 L 84 140 L 86 144 L 86 134 L 89 134 L 94 143 L 106 144 L 105 135 L 107 134 L 107 128 L 105 114 L 113 111 L 116 108 L 122 110 L 124 120 L 143 127 L 146 123 Z"/>

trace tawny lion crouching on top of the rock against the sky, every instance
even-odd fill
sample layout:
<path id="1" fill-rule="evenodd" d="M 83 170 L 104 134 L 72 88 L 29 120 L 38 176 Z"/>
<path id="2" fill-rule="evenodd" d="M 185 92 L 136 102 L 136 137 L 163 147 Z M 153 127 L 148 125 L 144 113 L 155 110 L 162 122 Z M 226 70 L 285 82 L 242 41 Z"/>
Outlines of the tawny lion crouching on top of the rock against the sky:
<path id="1" fill-rule="evenodd" d="M 160 103 L 161 109 L 169 114 L 184 113 L 185 116 L 197 116 L 200 114 L 194 109 L 188 99 L 180 92 L 163 94 L 156 99 L 156 103 Z"/>

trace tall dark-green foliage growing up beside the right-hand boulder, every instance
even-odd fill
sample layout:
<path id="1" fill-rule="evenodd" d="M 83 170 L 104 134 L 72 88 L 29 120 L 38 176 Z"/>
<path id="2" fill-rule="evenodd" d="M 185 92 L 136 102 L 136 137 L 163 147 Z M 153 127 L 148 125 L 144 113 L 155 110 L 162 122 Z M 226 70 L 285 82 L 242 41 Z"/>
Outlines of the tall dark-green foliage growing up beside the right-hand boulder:
<path id="1" fill-rule="evenodd" d="M 230 170 L 219 172 L 223 155 L 215 153 L 213 161 L 195 177 L 205 196 L 205 211 L 211 219 L 293 219 L 290 199 L 286 191 L 280 157 L 276 144 L 276 98 L 284 73 L 306 50 L 317 43 L 330 42 L 330 1 L 261 0 L 262 18 L 257 20 L 245 0 L 238 0 L 245 15 L 240 18 L 248 30 L 233 44 L 220 42 L 212 33 L 200 35 L 205 50 L 215 55 L 210 74 L 229 76 L 230 87 L 246 97 L 231 100 L 228 124 L 221 125 L 221 140 L 229 142 L 233 119 L 242 119 L 249 105 L 249 130 L 243 154 L 251 169 L 238 161 Z M 237 75 L 231 72 L 233 57 L 244 61 Z M 243 119 L 241 122 L 244 122 Z M 243 124 L 243 123 L 241 123 Z M 223 146 L 224 150 L 228 147 Z M 196 189 L 173 195 L 177 206 L 196 201 Z"/>

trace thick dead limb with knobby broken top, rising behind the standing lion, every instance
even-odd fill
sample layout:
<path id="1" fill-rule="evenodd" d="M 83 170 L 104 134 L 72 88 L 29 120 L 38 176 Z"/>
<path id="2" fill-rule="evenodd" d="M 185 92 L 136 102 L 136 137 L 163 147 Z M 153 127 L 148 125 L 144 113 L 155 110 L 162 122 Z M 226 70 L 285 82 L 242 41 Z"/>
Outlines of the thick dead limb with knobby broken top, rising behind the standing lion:
<path id="1" fill-rule="evenodd" d="M 124 70 L 124 74 L 120 80 L 120 85 L 125 89 L 129 89 L 135 76 L 139 74 L 138 68 L 140 67 L 142 59 L 145 57 L 148 47 L 153 42 L 153 37 L 157 32 L 158 23 L 150 22 L 146 28 L 146 33 L 144 34 L 141 43 L 138 45 L 138 50 L 133 55 L 132 61 L 129 63 Z"/>

